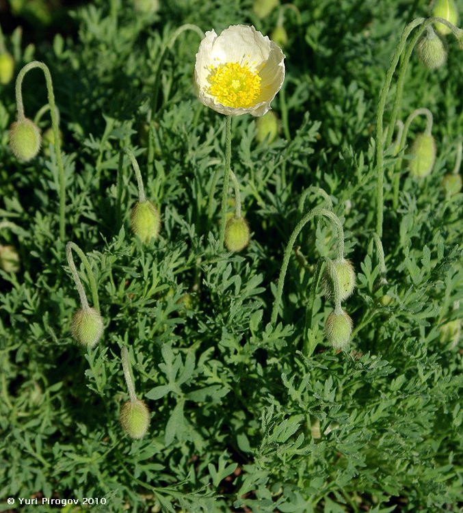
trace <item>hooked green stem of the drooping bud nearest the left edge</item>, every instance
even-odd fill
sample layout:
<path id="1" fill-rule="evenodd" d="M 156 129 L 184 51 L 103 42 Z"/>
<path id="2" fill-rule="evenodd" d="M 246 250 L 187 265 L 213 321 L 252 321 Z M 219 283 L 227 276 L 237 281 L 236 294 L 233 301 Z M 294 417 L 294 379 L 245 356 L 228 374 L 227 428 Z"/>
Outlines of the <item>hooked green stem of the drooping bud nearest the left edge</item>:
<path id="1" fill-rule="evenodd" d="M 28 71 L 34 68 L 40 68 L 45 76 L 47 83 L 48 101 L 50 105 L 51 127 L 53 129 L 53 145 L 55 146 L 56 163 L 58 167 L 59 177 L 59 238 L 64 240 L 66 235 L 65 231 L 65 213 L 66 213 L 66 189 L 64 185 L 64 167 L 61 156 L 61 149 L 59 148 L 59 121 L 57 118 L 57 108 L 55 105 L 55 94 L 53 93 L 53 83 L 51 81 L 50 70 L 43 62 L 32 61 L 26 64 L 23 69 L 18 73 L 16 78 L 16 107 L 18 109 L 18 121 L 25 119 L 24 104 L 23 104 L 23 79 Z"/>

